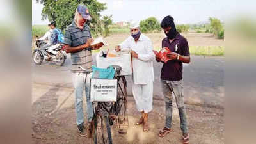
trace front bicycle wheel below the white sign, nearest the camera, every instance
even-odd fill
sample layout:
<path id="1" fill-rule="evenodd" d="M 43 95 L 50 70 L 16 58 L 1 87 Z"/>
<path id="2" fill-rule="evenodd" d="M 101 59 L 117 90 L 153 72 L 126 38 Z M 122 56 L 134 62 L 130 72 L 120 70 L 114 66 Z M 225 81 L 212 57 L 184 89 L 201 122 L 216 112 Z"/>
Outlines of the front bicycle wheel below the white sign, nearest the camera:
<path id="1" fill-rule="evenodd" d="M 93 144 L 112 144 L 111 129 L 107 115 L 98 115 L 95 119 L 95 129 L 92 136 Z"/>

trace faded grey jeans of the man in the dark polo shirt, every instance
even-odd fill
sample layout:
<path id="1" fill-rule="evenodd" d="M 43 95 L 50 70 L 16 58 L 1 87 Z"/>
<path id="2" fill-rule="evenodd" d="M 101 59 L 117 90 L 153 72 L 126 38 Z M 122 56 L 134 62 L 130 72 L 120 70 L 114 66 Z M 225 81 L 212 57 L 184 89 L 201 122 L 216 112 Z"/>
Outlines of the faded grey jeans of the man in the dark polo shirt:
<path id="1" fill-rule="evenodd" d="M 175 95 L 177 107 L 180 116 L 180 129 L 183 133 L 188 132 L 188 121 L 186 118 L 186 109 L 184 105 L 184 95 L 182 81 L 166 81 L 161 80 L 161 87 L 164 95 L 166 121 L 165 127 L 172 127 L 172 92 Z"/>

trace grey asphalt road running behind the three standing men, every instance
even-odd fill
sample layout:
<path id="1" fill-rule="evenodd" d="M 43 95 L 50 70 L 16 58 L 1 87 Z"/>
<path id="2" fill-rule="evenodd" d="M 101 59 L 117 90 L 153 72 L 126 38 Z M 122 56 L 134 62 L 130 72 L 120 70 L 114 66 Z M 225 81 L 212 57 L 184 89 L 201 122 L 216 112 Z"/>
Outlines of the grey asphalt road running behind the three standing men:
<path id="1" fill-rule="evenodd" d="M 161 67 L 161 63 L 154 62 L 154 99 L 163 100 L 159 81 Z M 56 67 L 53 63 L 49 62 L 44 62 L 42 65 L 35 65 L 33 63 L 32 71 L 33 83 L 72 88 L 69 59 L 67 59 L 63 67 Z M 127 77 L 127 80 L 128 95 L 132 95 L 131 77 Z M 183 81 L 186 104 L 223 108 L 223 57 L 191 56 L 191 63 L 184 65 Z"/>

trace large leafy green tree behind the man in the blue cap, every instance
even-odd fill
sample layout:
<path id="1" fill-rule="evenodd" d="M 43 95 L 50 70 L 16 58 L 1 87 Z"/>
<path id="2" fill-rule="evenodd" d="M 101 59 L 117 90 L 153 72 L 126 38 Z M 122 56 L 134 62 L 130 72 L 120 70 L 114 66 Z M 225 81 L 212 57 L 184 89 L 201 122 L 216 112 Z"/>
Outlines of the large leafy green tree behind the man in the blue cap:
<path id="1" fill-rule="evenodd" d="M 65 29 L 74 20 L 74 13 L 79 4 L 88 7 L 92 21 L 88 22 L 93 35 L 102 35 L 104 32 L 100 19 L 100 12 L 106 9 L 106 3 L 99 3 L 97 0 L 36 0 L 36 3 L 44 5 L 42 10 L 42 20 L 49 19 L 56 22 L 60 29 Z M 107 16 L 106 16 L 107 17 Z"/>

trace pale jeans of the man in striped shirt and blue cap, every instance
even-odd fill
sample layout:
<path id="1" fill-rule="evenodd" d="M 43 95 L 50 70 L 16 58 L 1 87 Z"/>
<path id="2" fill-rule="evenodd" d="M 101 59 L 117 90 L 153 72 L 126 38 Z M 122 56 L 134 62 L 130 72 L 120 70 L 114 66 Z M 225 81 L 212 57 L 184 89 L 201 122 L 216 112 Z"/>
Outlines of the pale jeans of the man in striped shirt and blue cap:
<path id="1" fill-rule="evenodd" d="M 76 96 L 76 124 L 83 124 L 84 113 L 83 113 L 83 91 L 85 87 L 86 105 L 87 105 L 87 118 L 88 122 L 92 121 L 93 118 L 93 106 L 90 102 L 90 77 L 92 73 L 86 74 L 81 72 L 72 73 L 72 82 L 75 88 Z M 85 81 L 86 78 L 86 81 Z"/>

